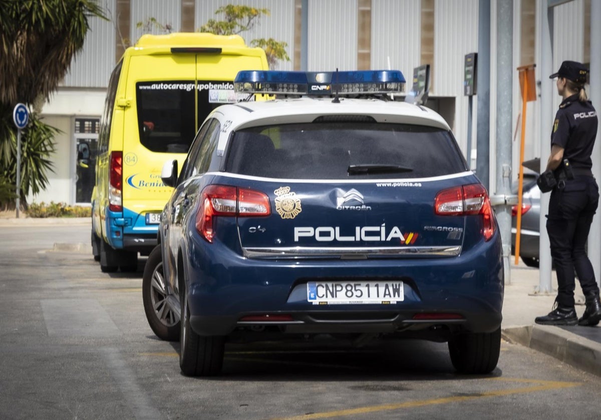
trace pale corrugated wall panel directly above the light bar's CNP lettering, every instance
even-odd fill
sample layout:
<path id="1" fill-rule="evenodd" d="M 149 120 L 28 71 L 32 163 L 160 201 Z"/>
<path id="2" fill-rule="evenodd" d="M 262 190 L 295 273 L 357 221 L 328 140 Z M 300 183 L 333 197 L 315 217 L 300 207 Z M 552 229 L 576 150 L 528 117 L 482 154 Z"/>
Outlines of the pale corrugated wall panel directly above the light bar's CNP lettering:
<path id="1" fill-rule="evenodd" d="M 309 0 L 308 11 L 307 70 L 356 70 L 357 0 Z"/>

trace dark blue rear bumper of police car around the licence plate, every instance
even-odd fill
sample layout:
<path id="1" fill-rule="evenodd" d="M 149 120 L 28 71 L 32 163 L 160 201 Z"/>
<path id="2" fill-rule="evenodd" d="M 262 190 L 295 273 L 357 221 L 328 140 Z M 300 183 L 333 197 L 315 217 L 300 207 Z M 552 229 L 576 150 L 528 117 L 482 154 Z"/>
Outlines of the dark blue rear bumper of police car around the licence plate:
<path id="1" fill-rule="evenodd" d="M 278 326 L 289 333 L 399 333 L 441 328 L 492 332 L 501 325 L 504 292 L 498 233 L 458 257 L 438 259 L 258 260 L 194 236 L 185 255 L 191 326 L 200 335 Z M 403 281 L 404 298 L 392 304 L 313 305 L 307 282 L 344 279 Z M 460 319 L 415 320 L 421 313 Z M 241 320 L 286 314 L 281 322 Z"/>

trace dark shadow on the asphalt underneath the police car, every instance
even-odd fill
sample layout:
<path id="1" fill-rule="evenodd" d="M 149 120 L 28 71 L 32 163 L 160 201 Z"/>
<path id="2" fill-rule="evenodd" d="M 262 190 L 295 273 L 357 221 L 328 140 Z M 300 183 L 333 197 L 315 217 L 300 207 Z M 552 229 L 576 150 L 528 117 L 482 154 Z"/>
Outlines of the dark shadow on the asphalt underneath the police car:
<path id="1" fill-rule="evenodd" d="M 170 344 L 179 353 L 180 343 Z M 457 373 L 451 364 L 447 343 L 386 340 L 359 348 L 335 342 L 228 343 L 221 373 L 198 379 L 265 382 L 374 380 L 379 385 L 365 385 L 369 389 L 364 391 L 382 391 L 386 389 L 380 388 L 388 385 L 381 382 L 397 382 L 399 379 L 470 380 L 501 376 L 499 367 L 486 375 Z"/>

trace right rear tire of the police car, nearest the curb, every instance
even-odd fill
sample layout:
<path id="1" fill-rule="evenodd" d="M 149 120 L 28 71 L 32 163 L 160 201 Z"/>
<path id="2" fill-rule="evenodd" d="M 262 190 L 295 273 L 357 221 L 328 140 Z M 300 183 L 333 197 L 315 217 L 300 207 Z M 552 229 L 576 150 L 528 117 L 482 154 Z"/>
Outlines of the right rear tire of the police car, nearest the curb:
<path id="1" fill-rule="evenodd" d="M 462 333 L 448 342 L 451 362 L 459 373 L 490 373 L 499 361 L 501 327 L 493 332 Z"/>

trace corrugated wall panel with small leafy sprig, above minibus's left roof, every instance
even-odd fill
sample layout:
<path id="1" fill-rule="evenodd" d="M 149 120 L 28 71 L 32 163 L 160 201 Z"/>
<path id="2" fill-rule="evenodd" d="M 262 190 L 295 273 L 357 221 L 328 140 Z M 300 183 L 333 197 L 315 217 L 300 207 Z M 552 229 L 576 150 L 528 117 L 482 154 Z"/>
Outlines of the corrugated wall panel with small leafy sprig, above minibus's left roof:
<path id="1" fill-rule="evenodd" d="M 131 44 L 144 34 L 162 35 L 168 31 L 150 22 L 156 19 L 160 25 L 169 25 L 171 32 L 179 32 L 182 28 L 182 4 L 180 0 L 130 0 Z M 138 28 L 138 23 L 141 27 Z"/>

